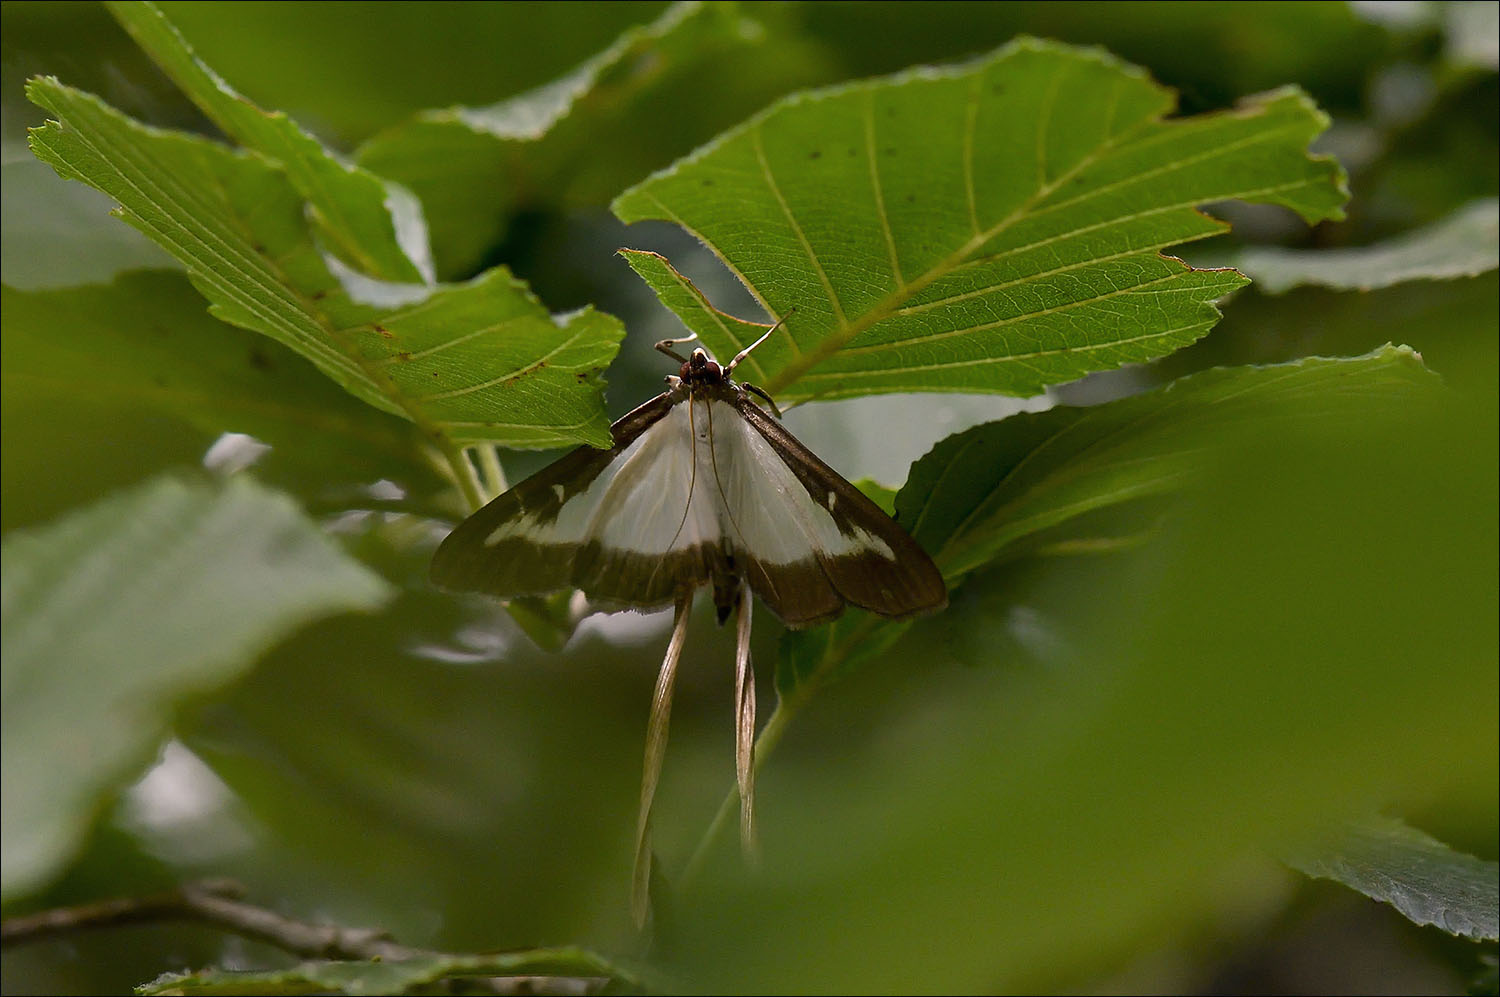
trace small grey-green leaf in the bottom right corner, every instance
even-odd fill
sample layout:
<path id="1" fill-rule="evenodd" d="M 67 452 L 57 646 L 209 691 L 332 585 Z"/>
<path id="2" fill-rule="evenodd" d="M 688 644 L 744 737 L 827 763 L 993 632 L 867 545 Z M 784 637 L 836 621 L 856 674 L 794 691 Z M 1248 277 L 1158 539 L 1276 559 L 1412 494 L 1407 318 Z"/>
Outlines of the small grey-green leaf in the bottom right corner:
<path id="1" fill-rule="evenodd" d="M 1350 825 L 1330 847 L 1290 864 L 1390 904 L 1419 925 L 1476 942 L 1500 939 L 1500 865 L 1455 852 L 1400 820 Z"/>

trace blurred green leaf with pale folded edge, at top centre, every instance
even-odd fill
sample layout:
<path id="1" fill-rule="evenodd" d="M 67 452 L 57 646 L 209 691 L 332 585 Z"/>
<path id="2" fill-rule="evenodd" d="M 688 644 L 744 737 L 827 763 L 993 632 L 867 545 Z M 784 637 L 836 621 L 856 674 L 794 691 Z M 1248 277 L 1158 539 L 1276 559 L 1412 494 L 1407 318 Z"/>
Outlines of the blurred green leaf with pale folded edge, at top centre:
<path id="1" fill-rule="evenodd" d="M 566 76 L 490 106 L 424 111 L 368 141 L 358 160 L 422 199 L 442 271 L 471 273 L 522 205 L 603 204 L 736 120 L 722 100 L 696 114 L 674 105 L 702 105 L 699 78 L 759 37 L 730 4 L 674 4 Z M 748 114 L 762 88 L 736 79 L 726 100 Z"/>

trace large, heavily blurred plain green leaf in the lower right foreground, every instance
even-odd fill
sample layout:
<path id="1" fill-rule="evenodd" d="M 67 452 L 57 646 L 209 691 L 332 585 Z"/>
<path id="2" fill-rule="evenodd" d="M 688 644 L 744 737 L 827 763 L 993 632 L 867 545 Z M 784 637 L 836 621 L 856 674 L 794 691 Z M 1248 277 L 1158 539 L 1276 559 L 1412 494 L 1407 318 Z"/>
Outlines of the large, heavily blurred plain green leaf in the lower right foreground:
<path id="1" fill-rule="evenodd" d="M 1268 850 L 1372 808 L 1488 820 L 1492 396 L 1376 381 L 1214 426 L 1150 543 L 970 576 L 867 667 L 888 709 L 806 709 L 758 874 L 676 898 L 687 987 L 1076 991 L 1164 946 L 1212 958 L 1204 925 L 1263 937 L 1288 886 Z"/>

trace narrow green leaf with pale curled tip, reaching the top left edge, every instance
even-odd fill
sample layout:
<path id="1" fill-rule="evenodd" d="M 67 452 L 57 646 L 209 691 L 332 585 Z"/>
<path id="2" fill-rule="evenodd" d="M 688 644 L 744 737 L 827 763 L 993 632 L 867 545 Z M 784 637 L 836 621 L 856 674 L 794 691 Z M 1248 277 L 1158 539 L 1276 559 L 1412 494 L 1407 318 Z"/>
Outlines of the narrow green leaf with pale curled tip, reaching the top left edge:
<path id="1" fill-rule="evenodd" d="M 280 163 L 308 201 L 318 234 L 340 259 L 381 280 L 432 282 L 428 231 L 410 193 L 339 162 L 290 117 L 267 114 L 236 93 L 194 54 L 154 3 L 106 6 L 225 135 Z M 399 228 L 393 211 L 402 220 Z"/>

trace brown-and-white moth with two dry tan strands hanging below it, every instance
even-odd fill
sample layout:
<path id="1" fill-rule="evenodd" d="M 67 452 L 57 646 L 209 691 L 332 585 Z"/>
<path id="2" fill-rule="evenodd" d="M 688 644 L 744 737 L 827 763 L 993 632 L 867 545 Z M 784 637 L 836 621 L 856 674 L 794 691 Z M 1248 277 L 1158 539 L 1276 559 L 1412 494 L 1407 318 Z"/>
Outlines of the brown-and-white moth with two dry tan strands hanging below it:
<path id="1" fill-rule="evenodd" d="M 858 606 L 912 616 L 948 601 L 932 558 L 855 486 L 798 442 L 730 375 L 750 349 L 720 366 L 704 349 L 676 360 L 666 391 L 610 427 L 614 447 L 579 447 L 478 510 L 442 541 L 432 580 L 510 598 L 566 588 L 676 615 L 648 721 L 636 825 L 633 910 L 646 913 L 651 801 L 666 753 L 672 684 L 699 588 L 718 622 L 736 618 L 735 771 L 741 840 L 754 847 L 754 675 L 750 598 L 788 627 L 812 627 Z M 776 412 L 780 415 L 778 412 Z"/>

